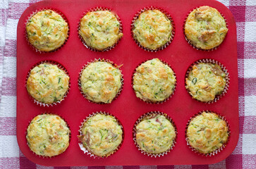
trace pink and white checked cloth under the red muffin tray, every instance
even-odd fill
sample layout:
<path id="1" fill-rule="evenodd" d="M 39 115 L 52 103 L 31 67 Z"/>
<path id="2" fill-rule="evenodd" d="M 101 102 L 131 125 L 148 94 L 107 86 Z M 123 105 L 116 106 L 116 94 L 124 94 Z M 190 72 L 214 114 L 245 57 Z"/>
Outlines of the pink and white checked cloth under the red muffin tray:
<path id="1" fill-rule="evenodd" d="M 38 0 L 36 0 L 38 1 Z M 221 0 L 233 13 L 238 37 L 239 128 L 233 153 L 211 165 L 44 167 L 29 161 L 16 140 L 16 27 L 35 0 L 0 0 L 0 168 L 171 169 L 256 168 L 256 0 Z"/>

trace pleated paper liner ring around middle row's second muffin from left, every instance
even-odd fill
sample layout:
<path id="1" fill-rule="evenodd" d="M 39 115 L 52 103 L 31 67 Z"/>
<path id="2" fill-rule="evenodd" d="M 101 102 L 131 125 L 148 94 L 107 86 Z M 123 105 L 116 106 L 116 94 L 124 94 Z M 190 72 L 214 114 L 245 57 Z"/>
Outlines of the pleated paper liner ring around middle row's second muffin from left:
<path id="1" fill-rule="evenodd" d="M 82 76 L 82 73 L 83 73 L 83 70 L 85 70 L 85 68 L 88 66 L 88 65 L 90 65 L 90 63 L 94 63 L 94 62 L 97 62 L 97 61 L 104 61 L 104 62 L 106 62 L 106 63 L 110 63 L 111 65 L 113 65 L 114 66 L 114 68 L 117 68 L 119 71 L 120 71 L 120 73 L 121 73 L 121 87 L 120 87 L 120 89 L 119 89 L 119 91 L 117 92 L 117 94 L 116 94 L 116 96 L 114 97 L 114 99 L 112 99 L 112 101 L 111 101 L 111 103 L 114 101 L 114 100 L 116 100 L 116 98 L 121 94 L 121 92 L 122 92 L 122 90 L 123 90 L 123 74 L 122 74 L 122 70 L 120 69 L 120 67 L 122 66 L 122 65 L 116 65 L 115 63 L 113 63 L 112 61 L 109 61 L 108 59 L 101 59 L 101 58 L 95 58 L 95 60 L 91 60 L 90 62 L 87 62 L 87 64 L 85 64 L 84 66 L 83 66 L 83 68 L 80 70 L 80 73 L 79 73 L 79 77 L 78 77 L 78 88 L 79 88 L 79 90 L 80 90 L 80 93 L 83 95 L 83 97 L 85 98 L 85 99 L 87 99 L 87 96 L 83 93 L 83 89 L 82 89 L 82 84 L 81 84 L 81 81 L 80 81 L 80 78 L 81 78 L 81 76 Z M 90 99 L 87 99 L 87 101 L 89 101 L 89 102 L 92 102 L 92 103 L 95 103 L 95 104 L 111 104 L 111 103 L 104 103 L 104 102 L 95 102 L 95 101 L 91 101 Z"/>

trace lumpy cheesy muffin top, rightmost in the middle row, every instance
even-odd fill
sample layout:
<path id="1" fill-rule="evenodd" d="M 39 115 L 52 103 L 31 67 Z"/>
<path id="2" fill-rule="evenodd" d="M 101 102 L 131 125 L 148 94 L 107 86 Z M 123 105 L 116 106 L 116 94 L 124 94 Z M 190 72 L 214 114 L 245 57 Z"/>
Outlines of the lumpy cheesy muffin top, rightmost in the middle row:
<path id="1" fill-rule="evenodd" d="M 186 78 L 186 88 L 199 101 L 212 101 L 226 86 L 226 74 L 221 67 L 212 63 L 198 63 Z"/>

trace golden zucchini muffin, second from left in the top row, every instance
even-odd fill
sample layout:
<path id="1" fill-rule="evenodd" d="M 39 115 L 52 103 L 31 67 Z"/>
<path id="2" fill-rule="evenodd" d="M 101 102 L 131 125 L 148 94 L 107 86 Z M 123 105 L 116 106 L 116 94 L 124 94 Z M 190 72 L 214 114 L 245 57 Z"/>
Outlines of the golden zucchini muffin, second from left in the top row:
<path id="1" fill-rule="evenodd" d="M 87 46 L 102 51 L 114 46 L 123 33 L 111 11 L 92 11 L 80 20 L 79 34 Z"/>

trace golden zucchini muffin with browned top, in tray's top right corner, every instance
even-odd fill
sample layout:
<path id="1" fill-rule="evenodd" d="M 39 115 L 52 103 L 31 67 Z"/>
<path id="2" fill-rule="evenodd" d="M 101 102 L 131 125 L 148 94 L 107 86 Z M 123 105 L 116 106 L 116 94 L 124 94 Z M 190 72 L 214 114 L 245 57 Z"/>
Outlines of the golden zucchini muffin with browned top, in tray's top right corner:
<path id="1" fill-rule="evenodd" d="M 199 49 L 213 49 L 226 37 L 226 21 L 216 8 L 201 6 L 192 11 L 185 21 L 185 36 Z"/>

